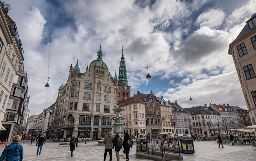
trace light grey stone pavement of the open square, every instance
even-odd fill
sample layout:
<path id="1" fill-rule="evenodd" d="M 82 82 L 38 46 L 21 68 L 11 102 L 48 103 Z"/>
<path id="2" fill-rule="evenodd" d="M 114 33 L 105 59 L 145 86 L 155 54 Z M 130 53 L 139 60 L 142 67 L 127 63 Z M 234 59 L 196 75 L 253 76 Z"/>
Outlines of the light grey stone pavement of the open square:
<path id="1" fill-rule="evenodd" d="M 10 143 L 9 143 L 10 144 Z M 1 144 L 2 145 L 2 144 Z M 42 148 L 40 156 L 36 155 L 37 146 L 35 143 L 27 145 L 25 141 L 24 147 L 24 161 L 102 161 L 104 154 L 104 146 L 98 145 L 96 141 L 85 143 L 78 143 L 78 148 L 75 149 L 73 158 L 70 154 L 70 146 L 62 145 L 58 147 L 59 143 L 47 140 Z M 217 148 L 218 144 L 215 141 L 200 141 L 195 142 L 195 154 L 183 154 L 184 161 L 255 161 L 256 149 L 252 145 L 235 145 L 224 144 L 224 148 Z M 0 148 L 2 153 L 3 148 Z M 120 161 L 125 161 L 125 154 L 120 151 Z M 129 158 L 131 161 L 148 160 L 135 156 L 135 146 L 131 149 Z M 112 150 L 112 160 L 116 161 L 114 150 Z M 106 161 L 109 161 L 109 154 L 107 154 Z"/>

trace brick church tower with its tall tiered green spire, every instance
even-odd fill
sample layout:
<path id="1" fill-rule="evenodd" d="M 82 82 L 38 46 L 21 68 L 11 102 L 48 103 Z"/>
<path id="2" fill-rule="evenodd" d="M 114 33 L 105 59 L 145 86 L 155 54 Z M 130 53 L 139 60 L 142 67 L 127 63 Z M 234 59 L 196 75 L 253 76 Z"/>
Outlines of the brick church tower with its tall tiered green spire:
<path id="1" fill-rule="evenodd" d="M 131 97 L 131 86 L 128 86 L 127 71 L 124 61 L 124 49 L 122 49 L 122 57 L 119 66 L 118 86 L 119 101 Z"/>

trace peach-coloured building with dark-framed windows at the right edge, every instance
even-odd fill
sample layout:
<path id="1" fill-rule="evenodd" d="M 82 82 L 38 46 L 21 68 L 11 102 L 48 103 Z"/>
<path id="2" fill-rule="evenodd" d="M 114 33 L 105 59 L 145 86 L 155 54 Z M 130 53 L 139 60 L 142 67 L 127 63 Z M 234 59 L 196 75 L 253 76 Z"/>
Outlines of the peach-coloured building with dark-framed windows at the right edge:
<path id="1" fill-rule="evenodd" d="M 256 13 L 254 13 L 236 39 L 229 44 L 244 99 L 253 125 L 256 124 Z M 256 129 L 255 129 L 256 132 Z"/>

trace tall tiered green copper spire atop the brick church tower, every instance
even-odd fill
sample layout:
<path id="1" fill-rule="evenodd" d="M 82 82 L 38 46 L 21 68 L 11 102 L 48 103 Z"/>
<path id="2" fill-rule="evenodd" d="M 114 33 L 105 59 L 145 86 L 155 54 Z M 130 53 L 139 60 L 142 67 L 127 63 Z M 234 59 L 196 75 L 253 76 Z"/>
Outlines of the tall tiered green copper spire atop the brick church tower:
<path id="1" fill-rule="evenodd" d="M 124 61 L 124 49 L 122 49 L 122 57 L 119 66 L 118 86 L 128 86 L 127 71 Z"/>

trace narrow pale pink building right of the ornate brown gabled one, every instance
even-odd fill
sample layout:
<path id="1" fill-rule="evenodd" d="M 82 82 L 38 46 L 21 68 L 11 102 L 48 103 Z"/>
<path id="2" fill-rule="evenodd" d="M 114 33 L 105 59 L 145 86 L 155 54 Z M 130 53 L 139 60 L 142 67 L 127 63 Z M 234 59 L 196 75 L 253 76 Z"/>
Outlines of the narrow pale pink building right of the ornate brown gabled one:
<path id="1" fill-rule="evenodd" d="M 163 99 L 163 96 L 156 97 L 158 102 L 160 103 L 161 108 L 161 119 L 162 119 L 162 132 L 174 132 L 174 126 L 173 126 L 173 112 L 172 107 L 168 103 L 168 101 L 165 101 Z"/>

